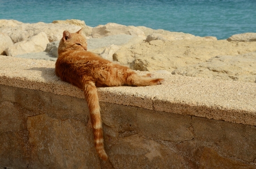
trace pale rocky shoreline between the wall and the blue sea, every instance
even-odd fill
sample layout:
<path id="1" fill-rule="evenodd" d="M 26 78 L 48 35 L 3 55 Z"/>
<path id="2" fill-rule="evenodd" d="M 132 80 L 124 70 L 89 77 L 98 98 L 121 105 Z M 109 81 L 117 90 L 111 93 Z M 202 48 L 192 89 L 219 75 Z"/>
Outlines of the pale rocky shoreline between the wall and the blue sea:
<path id="1" fill-rule="evenodd" d="M 83 28 L 88 51 L 134 70 L 256 83 L 256 33 L 227 40 L 116 23 L 88 27 L 81 20 L 28 24 L 0 20 L 0 55 L 56 60 L 62 32 Z"/>

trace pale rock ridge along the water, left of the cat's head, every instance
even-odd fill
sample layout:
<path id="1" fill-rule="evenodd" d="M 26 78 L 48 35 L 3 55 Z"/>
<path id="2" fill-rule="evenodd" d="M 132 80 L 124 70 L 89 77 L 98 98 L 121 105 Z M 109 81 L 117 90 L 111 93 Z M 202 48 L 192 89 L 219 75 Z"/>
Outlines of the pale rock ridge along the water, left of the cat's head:
<path id="1" fill-rule="evenodd" d="M 5 23 L 7 23 L 7 25 L 4 25 Z M 60 40 L 65 30 L 76 32 L 81 29 L 80 26 L 71 24 L 46 24 L 42 22 L 27 24 L 19 23 L 18 21 L 6 22 L 5 20 L 0 20 L 0 25 L 4 25 L 0 27 L 0 32 L 8 34 L 14 43 L 27 40 L 40 32 L 45 32 L 48 40 L 53 42 Z"/>

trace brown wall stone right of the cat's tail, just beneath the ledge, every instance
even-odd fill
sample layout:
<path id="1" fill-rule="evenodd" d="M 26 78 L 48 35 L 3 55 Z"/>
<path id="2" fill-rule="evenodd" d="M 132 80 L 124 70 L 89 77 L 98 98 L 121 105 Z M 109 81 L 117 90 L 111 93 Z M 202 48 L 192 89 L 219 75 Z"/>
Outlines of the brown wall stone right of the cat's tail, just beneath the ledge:
<path id="1" fill-rule="evenodd" d="M 168 141 L 187 141 L 194 138 L 189 129 L 190 116 L 181 119 L 177 114 L 158 114 L 153 110 L 110 103 L 101 103 L 101 110 L 104 123 L 112 127 L 111 131 L 106 129 L 112 137 L 126 137 L 138 133 Z"/>

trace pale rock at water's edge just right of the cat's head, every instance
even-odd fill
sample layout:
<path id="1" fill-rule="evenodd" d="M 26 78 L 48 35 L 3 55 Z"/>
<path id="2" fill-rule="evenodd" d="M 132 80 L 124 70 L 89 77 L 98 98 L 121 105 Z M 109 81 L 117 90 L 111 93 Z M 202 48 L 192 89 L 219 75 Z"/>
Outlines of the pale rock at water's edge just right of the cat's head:
<path id="1" fill-rule="evenodd" d="M 106 25 L 99 25 L 92 28 L 92 37 L 101 38 L 105 36 L 111 36 L 114 34 L 130 34 L 146 39 L 143 31 L 134 26 L 125 26 L 116 23 L 108 23 Z"/>

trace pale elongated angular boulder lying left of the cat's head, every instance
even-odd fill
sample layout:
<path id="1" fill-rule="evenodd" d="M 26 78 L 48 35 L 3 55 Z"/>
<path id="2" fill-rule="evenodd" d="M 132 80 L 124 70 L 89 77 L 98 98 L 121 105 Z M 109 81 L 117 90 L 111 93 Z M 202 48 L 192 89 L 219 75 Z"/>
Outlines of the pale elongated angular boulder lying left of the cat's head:
<path id="1" fill-rule="evenodd" d="M 17 42 L 16 44 L 8 47 L 6 49 L 6 54 L 14 57 L 15 55 L 44 51 L 48 43 L 49 40 L 46 33 L 41 32 L 29 40 Z"/>

